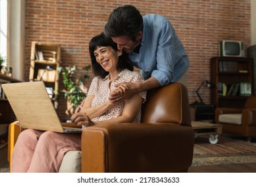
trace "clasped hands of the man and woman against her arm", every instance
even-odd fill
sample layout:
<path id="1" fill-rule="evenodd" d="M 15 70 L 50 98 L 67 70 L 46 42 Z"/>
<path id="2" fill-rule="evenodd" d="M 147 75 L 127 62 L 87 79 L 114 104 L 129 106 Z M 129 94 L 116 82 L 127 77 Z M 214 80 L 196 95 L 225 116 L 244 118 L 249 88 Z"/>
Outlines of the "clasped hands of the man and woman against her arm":
<path id="1" fill-rule="evenodd" d="M 116 84 L 115 87 L 115 90 L 109 95 L 109 100 L 113 102 L 126 100 L 139 92 L 139 82 L 122 82 Z"/>

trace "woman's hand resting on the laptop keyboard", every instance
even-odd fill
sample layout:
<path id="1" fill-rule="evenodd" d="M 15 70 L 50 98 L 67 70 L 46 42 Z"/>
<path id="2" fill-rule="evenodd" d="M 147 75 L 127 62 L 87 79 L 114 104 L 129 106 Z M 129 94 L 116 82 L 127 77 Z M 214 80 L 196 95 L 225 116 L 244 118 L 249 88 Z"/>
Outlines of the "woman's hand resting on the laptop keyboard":
<path id="1" fill-rule="evenodd" d="M 71 122 L 76 124 L 77 126 L 94 126 L 94 123 L 85 112 L 77 112 L 73 114 L 73 116 L 71 116 Z"/>

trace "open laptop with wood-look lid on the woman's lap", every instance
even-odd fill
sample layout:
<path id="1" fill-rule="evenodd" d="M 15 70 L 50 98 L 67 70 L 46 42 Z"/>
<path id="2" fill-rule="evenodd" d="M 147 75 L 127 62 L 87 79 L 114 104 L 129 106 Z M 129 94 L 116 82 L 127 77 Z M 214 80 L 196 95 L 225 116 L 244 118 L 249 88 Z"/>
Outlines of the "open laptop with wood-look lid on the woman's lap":
<path id="1" fill-rule="evenodd" d="M 21 127 L 61 133 L 82 132 L 75 124 L 59 121 L 42 81 L 6 83 L 2 88 Z"/>

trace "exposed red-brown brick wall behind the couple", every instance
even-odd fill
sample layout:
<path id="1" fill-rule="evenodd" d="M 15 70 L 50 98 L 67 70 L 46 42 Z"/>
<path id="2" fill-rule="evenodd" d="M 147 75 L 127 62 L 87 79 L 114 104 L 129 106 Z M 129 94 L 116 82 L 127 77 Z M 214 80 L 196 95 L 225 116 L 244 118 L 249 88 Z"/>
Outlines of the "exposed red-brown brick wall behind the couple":
<path id="1" fill-rule="evenodd" d="M 218 55 L 223 39 L 251 41 L 250 0 L 163 0 L 163 1 L 83 1 L 26 0 L 25 5 L 25 78 L 29 78 L 31 41 L 61 45 L 62 66 L 90 64 L 88 43 L 103 31 L 113 9 L 135 5 L 142 15 L 159 13 L 171 21 L 187 49 L 189 69 L 189 102 L 197 100 L 195 90 L 202 80 L 210 78 L 209 59 Z M 247 53 L 245 51 L 245 53 Z M 89 86 L 90 82 L 87 82 Z M 62 84 L 60 85 L 62 88 Z M 201 88 L 204 102 L 210 103 L 210 92 Z M 59 116 L 65 118 L 64 100 Z"/>

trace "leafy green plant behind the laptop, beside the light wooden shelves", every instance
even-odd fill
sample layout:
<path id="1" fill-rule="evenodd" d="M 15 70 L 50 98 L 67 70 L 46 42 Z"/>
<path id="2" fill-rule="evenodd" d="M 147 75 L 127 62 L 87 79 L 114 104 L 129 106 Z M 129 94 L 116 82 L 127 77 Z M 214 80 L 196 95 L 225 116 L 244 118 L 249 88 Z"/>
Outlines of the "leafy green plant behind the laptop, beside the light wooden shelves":
<path id="1" fill-rule="evenodd" d="M 85 72 L 91 70 L 91 65 L 83 68 Z M 57 68 L 57 72 L 61 72 L 63 76 L 63 84 L 65 86 L 64 96 L 67 99 L 66 114 L 69 118 L 80 108 L 81 102 L 86 98 L 87 88 L 83 85 L 83 80 L 89 79 L 90 76 L 85 73 L 83 78 L 77 73 L 77 66 L 67 66 L 65 68 Z"/>

